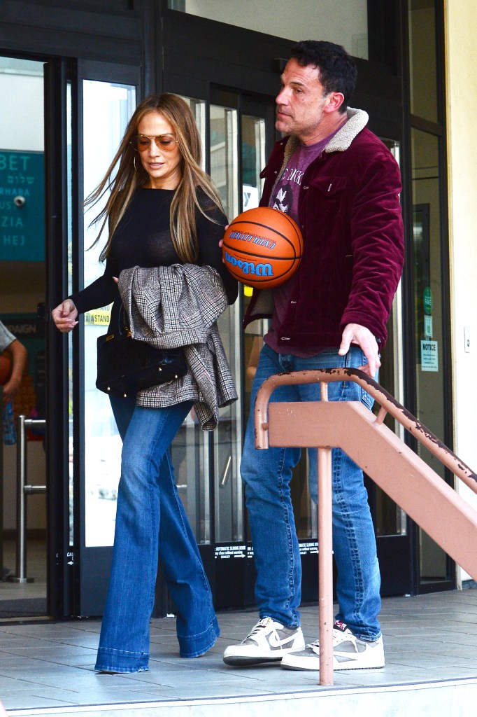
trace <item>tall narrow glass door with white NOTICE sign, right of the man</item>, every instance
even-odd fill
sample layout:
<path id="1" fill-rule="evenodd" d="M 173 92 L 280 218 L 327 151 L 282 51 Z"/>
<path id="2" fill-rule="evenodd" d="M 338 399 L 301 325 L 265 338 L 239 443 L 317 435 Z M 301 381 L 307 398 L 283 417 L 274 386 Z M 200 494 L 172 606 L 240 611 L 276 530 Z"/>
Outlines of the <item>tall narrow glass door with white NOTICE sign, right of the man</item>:
<path id="1" fill-rule="evenodd" d="M 440 440 L 453 447 L 452 362 L 450 356 L 450 286 L 448 190 L 445 156 L 445 67 L 440 37 L 442 3 L 408 2 L 410 169 L 415 416 Z M 425 67 L 425 72 L 423 72 Z M 449 470 L 420 444 L 418 454 L 443 480 Z M 427 533 L 415 526 L 417 592 L 455 587 L 454 562 Z"/>

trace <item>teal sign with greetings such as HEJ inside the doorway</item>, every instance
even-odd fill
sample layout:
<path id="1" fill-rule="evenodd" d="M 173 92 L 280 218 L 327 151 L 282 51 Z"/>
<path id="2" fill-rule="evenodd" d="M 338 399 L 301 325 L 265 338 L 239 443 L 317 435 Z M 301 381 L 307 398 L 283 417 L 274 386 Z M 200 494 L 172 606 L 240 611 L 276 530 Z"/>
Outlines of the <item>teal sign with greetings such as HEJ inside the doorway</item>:
<path id="1" fill-rule="evenodd" d="M 0 260 L 44 261 L 43 152 L 0 150 Z"/>

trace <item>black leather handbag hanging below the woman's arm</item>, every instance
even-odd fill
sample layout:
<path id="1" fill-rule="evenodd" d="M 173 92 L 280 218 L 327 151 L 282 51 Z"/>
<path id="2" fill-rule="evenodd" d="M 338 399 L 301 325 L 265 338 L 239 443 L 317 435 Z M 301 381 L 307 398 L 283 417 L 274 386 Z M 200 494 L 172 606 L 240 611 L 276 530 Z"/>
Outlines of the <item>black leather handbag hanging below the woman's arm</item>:
<path id="1" fill-rule="evenodd" d="M 122 311 L 118 323 L 116 333 L 97 339 L 97 389 L 125 398 L 186 375 L 182 348 L 155 348 L 132 338 Z"/>

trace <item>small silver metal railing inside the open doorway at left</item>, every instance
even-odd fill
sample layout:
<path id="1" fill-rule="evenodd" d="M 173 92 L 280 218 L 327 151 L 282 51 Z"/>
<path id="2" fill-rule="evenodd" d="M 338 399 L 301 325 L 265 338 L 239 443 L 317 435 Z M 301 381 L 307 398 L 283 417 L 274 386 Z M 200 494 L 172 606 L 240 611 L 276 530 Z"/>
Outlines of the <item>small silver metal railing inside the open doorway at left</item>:
<path id="1" fill-rule="evenodd" d="M 33 582 L 26 577 L 26 496 L 46 493 L 46 485 L 26 485 L 26 429 L 45 426 L 45 419 L 19 416 L 16 424 L 16 583 Z"/>

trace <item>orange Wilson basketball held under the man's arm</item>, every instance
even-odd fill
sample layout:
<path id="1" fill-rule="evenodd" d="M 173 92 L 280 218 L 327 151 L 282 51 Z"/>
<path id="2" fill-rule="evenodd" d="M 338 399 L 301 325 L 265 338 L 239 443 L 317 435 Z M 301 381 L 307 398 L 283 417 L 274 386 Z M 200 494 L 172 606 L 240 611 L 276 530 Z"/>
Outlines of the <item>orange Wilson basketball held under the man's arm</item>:
<path id="1" fill-rule="evenodd" d="M 238 281 L 259 289 L 283 284 L 297 271 L 303 237 L 296 222 L 278 209 L 247 209 L 228 224 L 222 255 Z"/>

